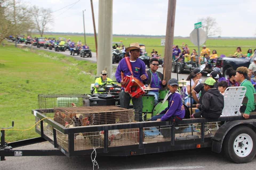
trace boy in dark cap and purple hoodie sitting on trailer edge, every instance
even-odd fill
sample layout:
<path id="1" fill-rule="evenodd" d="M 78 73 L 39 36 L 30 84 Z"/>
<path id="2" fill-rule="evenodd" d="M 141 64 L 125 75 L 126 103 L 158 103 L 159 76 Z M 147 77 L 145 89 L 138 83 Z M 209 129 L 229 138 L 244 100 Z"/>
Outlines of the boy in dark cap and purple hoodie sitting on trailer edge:
<path id="1" fill-rule="evenodd" d="M 180 122 L 185 117 L 185 108 L 181 100 L 181 95 L 176 93 L 178 88 L 178 80 L 170 79 L 168 81 L 168 88 L 170 90 L 168 97 L 168 107 L 165 108 L 161 113 L 153 116 L 151 121 L 172 121 L 176 123 Z"/>

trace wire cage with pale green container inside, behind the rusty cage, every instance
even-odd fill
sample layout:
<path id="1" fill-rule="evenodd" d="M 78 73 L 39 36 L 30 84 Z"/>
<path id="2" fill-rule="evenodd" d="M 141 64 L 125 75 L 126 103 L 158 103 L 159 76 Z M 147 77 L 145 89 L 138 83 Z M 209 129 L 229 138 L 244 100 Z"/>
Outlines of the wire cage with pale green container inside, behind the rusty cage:
<path id="1" fill-rule="evenodd" d="M 54 107 L 89 106 L 89 96 L 86 94 L 39 94 L 38 109 Z"/>

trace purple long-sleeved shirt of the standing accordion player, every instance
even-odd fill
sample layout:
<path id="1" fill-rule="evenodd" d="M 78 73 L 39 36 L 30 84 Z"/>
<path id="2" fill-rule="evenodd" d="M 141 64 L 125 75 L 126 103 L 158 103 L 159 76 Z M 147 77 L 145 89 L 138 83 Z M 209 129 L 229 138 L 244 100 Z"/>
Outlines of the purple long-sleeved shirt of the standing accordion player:
<path id="1" fill-rule="evenodd" d="M 133 71 L 133 76 L 139 79 L 141 82 L 142 82 L 141 75 L 143 74 L 145 74 L 148 79 L 145 63 L 141 59 L 138 58 L 135 62 L 131 62 L 131 69 Z M 129 71 L 128 66 L 126 64 L 125 58 L 123 58 L 119 62 L 117 66 L 117 71 L 115 72 L 115 79 L 117 80 L 118 83 L 121 83 L 121 71 L 123 71 L 124 77 L 126 75 L 131 75 L 131 72 Z M 144 81 L 147 81 L 147 79 Z"/>

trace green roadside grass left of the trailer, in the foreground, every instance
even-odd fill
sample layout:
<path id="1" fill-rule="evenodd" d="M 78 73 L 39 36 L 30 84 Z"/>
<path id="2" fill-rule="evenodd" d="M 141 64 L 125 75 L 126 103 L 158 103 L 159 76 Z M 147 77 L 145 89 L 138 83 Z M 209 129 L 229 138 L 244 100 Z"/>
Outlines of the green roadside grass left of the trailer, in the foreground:
<path id="1" fill-rule="evenodd" d="M 28 129 L 34 125 L 32 109 L 38 94 L 89 94 L 96 64 L 61 54 L 0 47 L 0 128 Z M 87 74 L 89 73 L 89 74 Z M 35 129 L 6 131 L 6 141 L 37 137 Z"/>

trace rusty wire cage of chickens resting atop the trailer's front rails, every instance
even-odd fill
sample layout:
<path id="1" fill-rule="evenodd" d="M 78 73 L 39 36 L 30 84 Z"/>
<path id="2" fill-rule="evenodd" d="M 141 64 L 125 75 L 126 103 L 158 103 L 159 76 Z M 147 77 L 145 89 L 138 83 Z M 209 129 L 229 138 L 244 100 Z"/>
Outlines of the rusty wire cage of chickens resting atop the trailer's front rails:
<path id="1" fill-rule="evenodd" d="M 55 122 L 66 128 L 138 121 L 138 111 L 116 106 L 63 107 L 53 111 L 46 116 L 53 117 Z"/>

